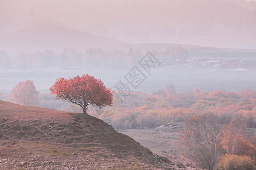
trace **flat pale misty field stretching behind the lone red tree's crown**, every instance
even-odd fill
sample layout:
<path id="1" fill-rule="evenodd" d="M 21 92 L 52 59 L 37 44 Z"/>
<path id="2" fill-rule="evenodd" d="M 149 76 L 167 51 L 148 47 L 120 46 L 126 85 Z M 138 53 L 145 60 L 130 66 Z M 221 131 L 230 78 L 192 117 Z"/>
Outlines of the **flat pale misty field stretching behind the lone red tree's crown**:
<path id="1" fill-rule="evenodd" d="M 49 92 L 48 88 L 52 86 L 57 78 L 68 78 L 84 73 L 94 75 L 96 78 L 101 79 L 108 88 L 113 88 L 119 80 L 122 80 L 130 86 L 131 90 L 146 93 L 158 91 L 160 88 L 165 88 L 170 83 L 174 84 L 176 92 L 178 93 L 193 91 L 195 87 L 199 87 L 203 91 L 221 90 L 226 92 L 238 92 L 246 88 L 256 90 L 256 70 L 242 69 L 192 69 L 184 66 L 166 66 L 152 70 L 151 75 L 144 73 L 147 78 L 137 89 L 133 88 L 124 78 L 130 70 L 0 70 L 0 92 L 10 93 L 11 89 L 16 86 L 16 84 L 28 79 L 34 80 L 36 89 L 39 92 Z"/>

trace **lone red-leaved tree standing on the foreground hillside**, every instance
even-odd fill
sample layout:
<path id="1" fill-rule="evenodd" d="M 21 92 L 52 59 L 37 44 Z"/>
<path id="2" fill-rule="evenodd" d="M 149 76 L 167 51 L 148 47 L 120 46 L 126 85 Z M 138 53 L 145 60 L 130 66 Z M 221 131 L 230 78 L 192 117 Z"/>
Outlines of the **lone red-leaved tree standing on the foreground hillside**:
<path id="1" fill-rule="evenodd" d="M 51 94 L 56 95 L 57 99 L 68 100 L 79 105 L 85 114 L 87 114 L 88 105 L 102 108 L 113 104 L 110 89 L 106 88 L 100 79 L 88 74 L 69 79 L 59 78 L 49 90 Z"/>

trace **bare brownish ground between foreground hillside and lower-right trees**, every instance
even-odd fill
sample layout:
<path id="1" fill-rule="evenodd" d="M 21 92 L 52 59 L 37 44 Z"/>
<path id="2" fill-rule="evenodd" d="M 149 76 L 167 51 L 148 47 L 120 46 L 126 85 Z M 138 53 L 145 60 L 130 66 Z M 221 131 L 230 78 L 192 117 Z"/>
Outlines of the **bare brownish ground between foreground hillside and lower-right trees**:
<path id="1" fill-rule="evenodd" d="M 174 122 L 166 126 L 153 129 L 127 129 L 120 132 L 134 138 L 141 145 L 150 148 L 150 150 L 160 156 L 168 159 L 182 162 L 183 164 L 191 163 L 184 158 L 182 147 L 177 142 L 179 131 L 184 123 Z"/>

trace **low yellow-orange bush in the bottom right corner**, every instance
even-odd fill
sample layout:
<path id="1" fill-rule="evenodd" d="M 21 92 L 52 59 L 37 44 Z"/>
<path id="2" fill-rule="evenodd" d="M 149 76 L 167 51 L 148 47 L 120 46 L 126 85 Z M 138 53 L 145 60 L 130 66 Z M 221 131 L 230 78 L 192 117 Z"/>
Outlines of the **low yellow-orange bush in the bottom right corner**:
<path id="1" fill-rule="evenodd" d="M 253 170 L 255 169 L 250 156 L 225 154 L 214 170 Z"/>

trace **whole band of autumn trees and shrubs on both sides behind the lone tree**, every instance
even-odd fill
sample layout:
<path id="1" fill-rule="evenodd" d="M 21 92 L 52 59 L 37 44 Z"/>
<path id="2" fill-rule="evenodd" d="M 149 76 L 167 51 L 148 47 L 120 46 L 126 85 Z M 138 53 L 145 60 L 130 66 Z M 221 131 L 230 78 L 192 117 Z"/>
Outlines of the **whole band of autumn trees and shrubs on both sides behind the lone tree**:
<path id="1" fill-rule="evenodd" d="M 76 105 L 55 100 L 55 96 L 40 94 L 32 80 L 18 83 L 12 94 L 0 93 L 0 99 L 14 103 L 81 112 Z M 113 98 L 112 113 L 109 108 L 88 108 L 89 114 L 102 118 L 117 130 L 156 128 L 168 122 L 185 122 L 194 114 L 213 112 L 216 121 L 224 125 L 234 117 L 243 118 L 247 128 L 256 128 L 256 91 L 204 92 L 195 87 L 193 92 L 177 94 L 173 84 L 154 92 L 152 95 L 131 92 L 125 102 Z"/>

